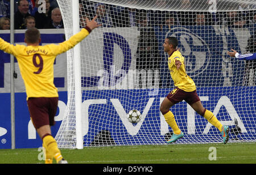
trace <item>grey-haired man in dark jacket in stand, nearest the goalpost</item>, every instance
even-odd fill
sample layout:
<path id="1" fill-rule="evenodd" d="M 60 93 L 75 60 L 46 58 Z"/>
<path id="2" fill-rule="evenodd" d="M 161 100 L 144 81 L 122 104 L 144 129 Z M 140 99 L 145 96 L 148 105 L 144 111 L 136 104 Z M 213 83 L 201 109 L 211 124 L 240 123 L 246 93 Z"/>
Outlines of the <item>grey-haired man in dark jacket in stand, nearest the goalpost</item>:
<path id="1" fill-rule="evenodd" d="M 54 8 L 51 14 L 51 20 L 44 26 L 44 28 L 64 28 L 60 8 Z"/>

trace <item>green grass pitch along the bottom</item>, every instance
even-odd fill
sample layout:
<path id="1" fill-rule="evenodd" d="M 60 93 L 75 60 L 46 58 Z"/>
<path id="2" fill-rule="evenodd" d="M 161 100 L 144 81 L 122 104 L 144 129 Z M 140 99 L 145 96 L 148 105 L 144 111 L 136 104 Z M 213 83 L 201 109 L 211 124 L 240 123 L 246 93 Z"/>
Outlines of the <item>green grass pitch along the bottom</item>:
<path id="1" fill-rule="evenodd" d="M 255 164 L 256 143 L 61 149 L 69 164 Z M 43 164 L 42 149 L 0 149 L 0 164 Z M 210 160 L 210 159 L 211 160 Z M 216 158 L 216 159 L 214 159 Z M 53 161 L 53 163 L 55 163 Z"/>

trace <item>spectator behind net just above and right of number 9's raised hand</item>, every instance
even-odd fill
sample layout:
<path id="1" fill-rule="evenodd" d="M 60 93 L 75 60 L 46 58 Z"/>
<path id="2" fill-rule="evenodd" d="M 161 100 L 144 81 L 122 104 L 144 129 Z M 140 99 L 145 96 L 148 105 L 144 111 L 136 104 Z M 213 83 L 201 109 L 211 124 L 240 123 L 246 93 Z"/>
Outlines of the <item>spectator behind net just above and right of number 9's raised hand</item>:
<path id="1" fill-rule="evenodd" d="M 102 24 L 101 27 L 114 27 L 111 15 L 109 14 L 108 9 L 104 3 L 97 3 L 94 6 L 94 9 L 96 15 L 98 15 L 96 21 L 98 24 Z"/>

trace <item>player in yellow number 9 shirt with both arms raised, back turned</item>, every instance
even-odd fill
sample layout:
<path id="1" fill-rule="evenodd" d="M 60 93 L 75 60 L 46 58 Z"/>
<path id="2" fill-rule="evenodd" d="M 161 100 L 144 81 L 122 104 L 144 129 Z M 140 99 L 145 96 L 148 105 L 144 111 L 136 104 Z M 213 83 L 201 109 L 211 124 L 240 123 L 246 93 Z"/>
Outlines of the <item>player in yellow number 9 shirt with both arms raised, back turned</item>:
<path id="1" fill-rule="evenodd" d="M 59 94 L 53 84 L 53 63 L 57 55 L 67 52 L 82 41 L 96 27 L 95 16 L 91 21 L 86 19 L 86 27 L 73 35 L 69 40 L 59 45 L 49 44 L 40 46 L 40 32 L 36 28 L 29 28 L 25 33 L 25 45 L 12 45 L 0 38 L 0 49 L 13 54 L 19 64 L 20 74 L 24 80 L 27 93 L 27 105 L 31 121 L 43 141 L 46 152 L 46 163 L 65 164 L 57 142 L 51 135 L 51 126 L 55 125 Z"/>

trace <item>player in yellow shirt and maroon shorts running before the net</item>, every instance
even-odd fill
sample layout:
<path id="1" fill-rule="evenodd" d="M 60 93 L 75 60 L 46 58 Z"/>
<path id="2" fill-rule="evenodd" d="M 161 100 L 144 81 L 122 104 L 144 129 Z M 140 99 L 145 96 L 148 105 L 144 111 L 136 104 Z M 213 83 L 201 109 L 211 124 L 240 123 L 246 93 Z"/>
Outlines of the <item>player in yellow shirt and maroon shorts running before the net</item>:
<path id="1" fill-rule="evenodd" d="M 174 134 L 167 143 L 176 142 L 177 139 L 184 136 L 183 132 L 177 126 L 174 114 L 171 112 L 171 106 L 185 100 L 191 107 L 201 116 L 206 118 L 209 123 L 217 127 L 223 136 L 224 144 L 229 140 L 229 127 L 223 126 L 212 112 L 205 109 L 201 104 L 199 96 L 196 93 L 196 85 L 193 80 L 187 75 L 184 65 L 184 57 L 177 50 L 178 41 L 175 37 L 168 36 L 164 40 L 164 52 L 168 53 L 168 67 L 171 77 L 174 80 L 175 89 L 171 91 L 160 105 L 160 111 L 168 125 L 171 126 Z"/>

